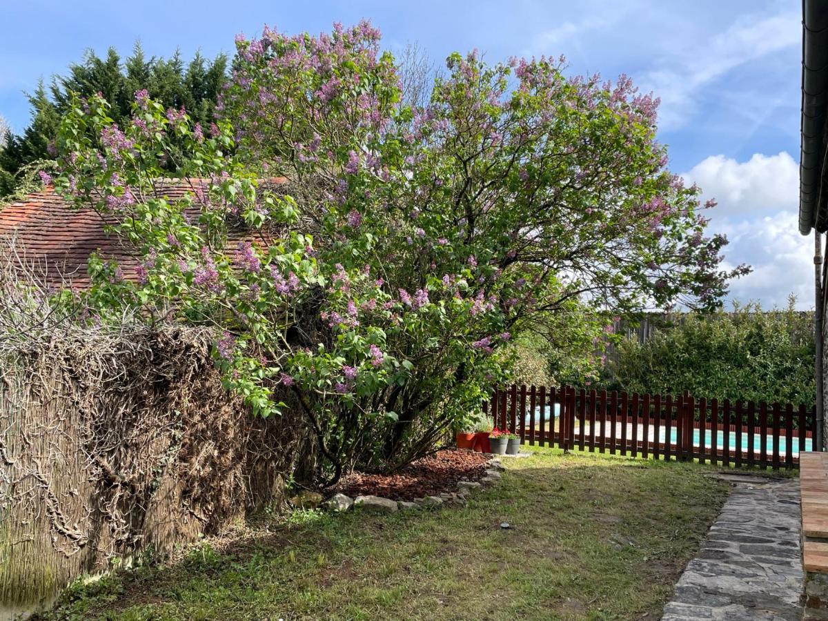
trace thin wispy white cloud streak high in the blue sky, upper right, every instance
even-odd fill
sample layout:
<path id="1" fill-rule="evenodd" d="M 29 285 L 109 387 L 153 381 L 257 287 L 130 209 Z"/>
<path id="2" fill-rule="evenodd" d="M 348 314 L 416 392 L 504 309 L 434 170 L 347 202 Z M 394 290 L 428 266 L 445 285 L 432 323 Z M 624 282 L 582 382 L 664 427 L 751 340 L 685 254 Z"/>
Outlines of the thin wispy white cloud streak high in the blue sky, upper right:
<path id="1" fill-rule="evenodd" d="M 741 65 L 801 44 L 797 12 L 749 16 L 696 46 L 662 56 L 657 68 L 643 75 L 643 90 L 662 99 L 659 127 L 681 128 L 696 112 L 700 91 Z"/>

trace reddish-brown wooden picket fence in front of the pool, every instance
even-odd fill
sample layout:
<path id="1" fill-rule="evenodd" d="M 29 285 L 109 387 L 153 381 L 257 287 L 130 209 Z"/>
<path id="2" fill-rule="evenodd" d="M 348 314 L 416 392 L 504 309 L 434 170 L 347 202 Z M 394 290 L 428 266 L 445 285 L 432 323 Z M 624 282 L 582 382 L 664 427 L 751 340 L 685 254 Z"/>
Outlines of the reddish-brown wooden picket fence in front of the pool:
<path id="1" fill-rule="evenodd" d="M 529 445 L 792 469 L 812 450 L 816 406 L 571 387 L 495 389 L 484 412 Z"/>

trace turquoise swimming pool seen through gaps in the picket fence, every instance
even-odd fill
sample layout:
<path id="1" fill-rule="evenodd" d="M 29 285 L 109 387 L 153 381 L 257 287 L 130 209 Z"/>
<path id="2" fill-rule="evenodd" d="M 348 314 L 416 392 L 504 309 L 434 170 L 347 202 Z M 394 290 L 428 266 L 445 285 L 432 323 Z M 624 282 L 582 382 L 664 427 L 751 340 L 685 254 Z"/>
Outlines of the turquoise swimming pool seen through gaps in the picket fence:
<path id="1" fill-rule="evenodd" d="M 555 404 L 554 412 L 555 412 L 555 417 L 556 418 L 559 418 L 561 416 L 561 404 L 560 403 Z M 544 412 L 544 413 L 546 415 L 546 416 L 544 416 L 544 421 L 549 421 L 550 411 L 549 411 L 548 407 L 546 408 L 546 412 Z M 536 407 L 535 408 L 535 428 L 536 429 L 540 428 L 540 422 L 541 422 L 541 408 Z M 524 425 L 527 427 L 527 429 L 529 427 L 529 424 L 530 424 L 530 416 L 527 414 L 526 420 L 524 421 Z M 584 427 L 585 427 L 584 432 L 588 434 L 590 432 L 589 431 L 590 430 L 589 422 L 587 422 Z M 605 424 L 605 428 L 606 428 L 606 435 L 607 435 L 608 438 L 612 437 L 611 427 L 612 427 L 612 424 L 609 421 L 607 421 L 606 424 Z M 614 434 L 616 438 L 622 437 L 622 431 L 623 431 L 622 427 L 623 427 L 622 423 L 616 422 L 616 429 L 615 429 L 615 434 Z M 577 420 L 577 418 L 575 419 L 575 429 L 576 430 L 578 429 L 578 420 Z M 595 436 L 599 437 L 599 430 L 597 429 L 597 425 L 596 425 L 596 430 L 595 431 L 596 431 Z M 642 438 L 643 433 L 644 433 L 644 426 L 643 425 L 638 425 L 638 429 L 636 430 L 636 437 Z M 676 435 L 677 435 L 677 430 L 674 426 L 672 426 L 670 428 L 670 443 L 673 444 L 673 445 L 676 444 Z M 667 436 L 667 427 L 666 426 L 659 426 L 658 427 L 658 442 L 663 444 L 666 436 Z M 693 445 L 694 446 L 700 446 L 700 436 L 701 436 L 701 430 L 700 429 L 694 429 L 693 430 Z M 633 437 L 633 424 L 632 423 L 627 424 L 627 437 L 628 438 Z M 650 441 L 650 442 L 656 441 L 655 440 L 655 430 L 653 429 L 652 426 L 647 428 L 647 440 Z M 802 446 L 800 446 L 800 441 L 801 441 L 800 438 L 793 437 L 791 440 L 792 440 L 792 445 L 791 445 L 792 455 L 799 455 L 800 450 L 805 450 L 805 451 L 813 450 L 811 438 L 804 438 L 803 439 L 804 441 L 802 442 Z M 720 450 L 724 450 L 724 431 L 716 431 L 715 441 L 716 441 L 716 448 L 720 449 Z M 743 431 L 742 432 L 741 448 L 742 448 L 742 452 L 745 455 L 747 455 L 747 453 L 748 453 L 750 442 L 751 442 L 751 436 L 746 431 Z M 705 430 L 705 447 L 709 448 L 709 449 L 713 448 L 713 432 L 710 429 Z M 736 450 L 736 432 L 735 431 L 730 431 L 729 434 L 728 434 L 728 447 L 729 447 L 729 450 Z M 761 453 L 761 451 L 762 451 L 762 435 L 758 434 L 758 433 L 753 434 L 753 452 L 756 455 L 759 455 Z M 770 435 L 770 434 L 768 434 L 768 437 L 766 438 L 766 441 L 765 441 L 765 451 L 768 455 L 771 455 L 773 453 L 773 436 Z M 787 452 L 787 438 L 785 436 L 779 436 L 779 454 L 780 455 L 785 455 L 786 452 Z"/>

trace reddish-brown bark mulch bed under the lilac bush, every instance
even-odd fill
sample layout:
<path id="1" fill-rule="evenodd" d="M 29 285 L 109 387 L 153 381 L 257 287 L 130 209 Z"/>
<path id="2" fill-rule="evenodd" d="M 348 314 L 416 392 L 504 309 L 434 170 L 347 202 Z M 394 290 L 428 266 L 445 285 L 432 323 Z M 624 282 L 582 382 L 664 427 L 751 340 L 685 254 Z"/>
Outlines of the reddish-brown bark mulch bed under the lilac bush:
<path id="1" fill-rule="evenodd" d="M 354 472 L 339 482 L 336 492 L 351 498 L 371 494 L 392 500 L 412 501 L 423 496 L 453 492 L 458 481 L 476 481 L 484 477 L 491 455 L 465 450 L 440 450 L 423 457 L 396 474 Z"/>

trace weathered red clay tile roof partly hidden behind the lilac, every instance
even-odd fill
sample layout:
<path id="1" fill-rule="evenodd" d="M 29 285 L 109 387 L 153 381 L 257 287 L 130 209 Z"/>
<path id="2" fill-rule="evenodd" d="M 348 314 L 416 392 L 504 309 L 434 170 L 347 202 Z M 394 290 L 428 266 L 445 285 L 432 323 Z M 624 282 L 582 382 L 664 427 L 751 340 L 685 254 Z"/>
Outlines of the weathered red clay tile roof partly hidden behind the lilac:
<path id="1" fill-rule="evenodd" d="M 190 182 L 164 181 L 157 194 L 171 199 L 181 198 L 190 190 Z M 286 180 L 273 177 L 268 180 L 282 184 Z M 194 215 L 198 208 L 193 209 Z M 71 209 L 62 196 L 51 188 L 26 196 L 25 200 L 0 207 L 0 237 L 12 235 L 17 252 L 26 262 L 32 262 L 53 286 L 70 282 L 71 286 L 89 286 L 86 272 L 89 256 L 98 252 L 103 258 L 118 262 L 124 277 L 135 280 L 138 265 L 132 248 L 123 243 L 116 233 L 107 233 L 106 224 L 113 224 L 92 209 Z M 232 238 L 243 239 L 238 232 Z"/>

